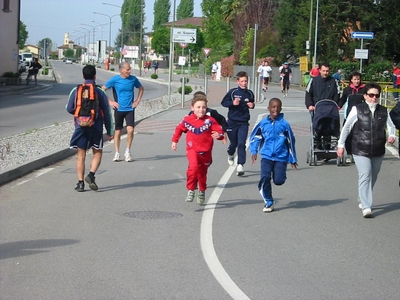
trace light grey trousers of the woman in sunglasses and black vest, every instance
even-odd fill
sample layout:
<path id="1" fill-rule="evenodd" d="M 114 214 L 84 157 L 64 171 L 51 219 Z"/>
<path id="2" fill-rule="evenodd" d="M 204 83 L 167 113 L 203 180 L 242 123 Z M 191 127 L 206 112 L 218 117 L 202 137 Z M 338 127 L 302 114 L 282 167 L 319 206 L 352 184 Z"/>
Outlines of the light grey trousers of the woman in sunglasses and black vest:
<path id="1" fill-rule="evenodd" d="M 354 162 L 358 170 L 358 197 L 362 208 L 372 207 L 372 191 L 379 171 L 381 170 L 383 156 L 365 157 L 353 155 Z"/>

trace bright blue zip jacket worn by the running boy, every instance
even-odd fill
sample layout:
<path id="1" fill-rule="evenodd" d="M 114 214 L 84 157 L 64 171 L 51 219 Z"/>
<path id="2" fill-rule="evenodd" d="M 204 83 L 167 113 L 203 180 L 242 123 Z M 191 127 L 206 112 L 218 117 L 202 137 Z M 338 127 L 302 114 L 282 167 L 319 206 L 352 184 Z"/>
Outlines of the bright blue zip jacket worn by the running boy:
<path id="1" fill-rule="evenodd" d="M 249 150 L 252 155 L 260 151 L 261 158 L 268 160 L 297 163 L 295 137 L 282 113 L 275 121 L 268 116 L 254 127 Z"/>

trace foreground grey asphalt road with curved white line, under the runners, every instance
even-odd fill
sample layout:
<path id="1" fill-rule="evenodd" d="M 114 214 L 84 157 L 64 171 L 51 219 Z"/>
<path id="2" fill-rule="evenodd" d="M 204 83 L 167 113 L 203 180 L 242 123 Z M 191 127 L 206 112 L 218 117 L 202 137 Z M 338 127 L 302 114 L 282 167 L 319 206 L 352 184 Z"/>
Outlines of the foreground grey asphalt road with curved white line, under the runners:
<path id="1" fill-rule="evenodd" d="M 272 96 L 281 97 L 278 87 Z M 188 108 L 142 121 L 132 163 L 113 163 L 108 144 L 98 192 L 74 191 L 74 158 L 0 187 L 0 298 L 399 299 L 397 157 L 387 151 L 375 217 L 364 219 L 355 166 L 306 164 L 304 92 L 282 100 L 299 169 L 273 186 L 270 214 L 257 190 L 259 163 L 248 155 L 237 177 L 218 141 L 207 205 L 184 201 L 184 141 L 173 152 L 170 139 Z M 251 123 L 264 113 L 258 104 Z"/>

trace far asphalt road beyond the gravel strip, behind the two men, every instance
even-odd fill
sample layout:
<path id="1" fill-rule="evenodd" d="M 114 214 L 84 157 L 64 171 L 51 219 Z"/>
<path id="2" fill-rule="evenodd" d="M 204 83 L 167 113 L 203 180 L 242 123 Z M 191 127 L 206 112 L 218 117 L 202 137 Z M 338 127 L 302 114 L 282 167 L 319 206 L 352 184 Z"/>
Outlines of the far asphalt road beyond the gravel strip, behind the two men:
<path id="1" fill-rule="evenodd" d="M 52 61 L 58 83 L 49 83 L 47 88 L 24 94 L 0 96 L 0 136 L 7 137 L 45 126 L 71 121 L 65 105 L 72 88 L 83 82 L 82 66 Z M 97 69 L 96 83 L 104 84 L 117 72 Z M 141 80 L 145 88 L 143 101 L 167 94 L 167 86 L 153 80 Z M 109 92 L 112 98 L 112 93 Z"/>

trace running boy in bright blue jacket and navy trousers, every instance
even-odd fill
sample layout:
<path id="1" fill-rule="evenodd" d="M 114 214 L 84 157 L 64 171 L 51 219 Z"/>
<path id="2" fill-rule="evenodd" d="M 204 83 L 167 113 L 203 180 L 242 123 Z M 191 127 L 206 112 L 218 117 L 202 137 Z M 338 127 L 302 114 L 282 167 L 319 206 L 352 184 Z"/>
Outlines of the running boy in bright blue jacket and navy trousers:
<path id="1" fill-rule="evenodd" d="M 275 185 L 282 185 L 286 181 L 286 165 L 290 163 L 297 169 L 295 138 L 289 123 L 283 118 L 282 101 L 278 98 L 269 100 L 270 115 L 261 120 L 250 135 L 251 161 L 257 160 L 257 153 L 261 154 L 261 177 L 258 190 L 265 202 L 263 212 L 274 210 L 272 198 L 271 178 Z"/>

